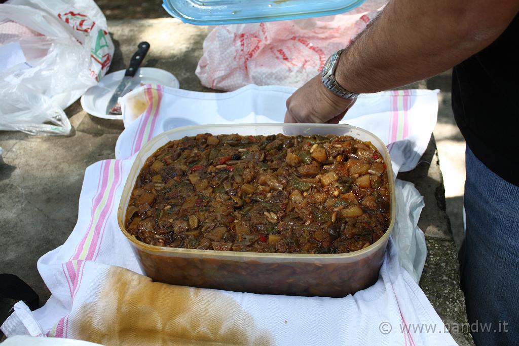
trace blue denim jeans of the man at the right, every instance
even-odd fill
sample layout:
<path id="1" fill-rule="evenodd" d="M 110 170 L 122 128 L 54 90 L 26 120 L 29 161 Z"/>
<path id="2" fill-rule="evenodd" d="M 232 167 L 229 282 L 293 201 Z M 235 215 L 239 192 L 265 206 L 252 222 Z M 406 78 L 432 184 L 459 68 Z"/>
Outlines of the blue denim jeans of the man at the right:
<path id="1" fill-rule="evenodd" d="M 460 276 L 472 336 L 476 345 L 519 345 L 519 187 L 468 146 L 466 167 Z"/>

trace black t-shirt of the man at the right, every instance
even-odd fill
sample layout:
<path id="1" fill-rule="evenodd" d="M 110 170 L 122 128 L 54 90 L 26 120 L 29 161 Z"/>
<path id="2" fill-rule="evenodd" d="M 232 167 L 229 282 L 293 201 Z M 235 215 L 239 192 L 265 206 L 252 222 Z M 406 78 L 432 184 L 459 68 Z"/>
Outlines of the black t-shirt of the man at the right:
<path id="1" fill-rule="evenodd" d="M 452 103 L 474 155 L 519 186 L 519 15 L 491 45 L 455 66 Z"/>

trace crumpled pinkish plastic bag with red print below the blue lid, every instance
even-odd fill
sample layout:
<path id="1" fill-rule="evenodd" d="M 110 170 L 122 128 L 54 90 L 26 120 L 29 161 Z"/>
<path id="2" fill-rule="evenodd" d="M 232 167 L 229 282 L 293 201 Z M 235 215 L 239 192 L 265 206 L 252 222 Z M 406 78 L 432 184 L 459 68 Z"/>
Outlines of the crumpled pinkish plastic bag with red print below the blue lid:
<path id="1" fill-rule="evenodd" d="M 385 4 L 367 0 L 344 15 L 216 26 L 203 43 L 196 75 L 204 86 L 227 91 L 247 84 L 299 87 Z"/>

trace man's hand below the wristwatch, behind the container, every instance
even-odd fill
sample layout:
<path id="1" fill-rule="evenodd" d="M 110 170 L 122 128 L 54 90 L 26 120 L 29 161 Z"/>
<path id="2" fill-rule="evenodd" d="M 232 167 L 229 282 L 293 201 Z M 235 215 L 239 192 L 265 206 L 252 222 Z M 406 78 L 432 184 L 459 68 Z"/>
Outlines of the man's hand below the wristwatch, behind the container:
<path id="1" fill-rule="evenodd" d="M 285 123 L 337 124 L 353 103 L 333 94 L 317 75 L 286 100 Z"/>

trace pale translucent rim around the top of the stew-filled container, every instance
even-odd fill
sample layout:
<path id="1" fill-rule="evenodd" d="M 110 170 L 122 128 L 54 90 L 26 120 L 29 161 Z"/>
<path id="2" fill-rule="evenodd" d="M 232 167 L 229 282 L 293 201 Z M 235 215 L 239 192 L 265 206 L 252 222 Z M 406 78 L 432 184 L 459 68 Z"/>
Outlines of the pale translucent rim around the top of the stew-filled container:
<path id="1" fill-rule="evenodd" d="M 382 246 L 384 243 L 386 243 L 389 239 L 389 236 L 393 230 L 394 222 L 395 222 L 395 190 L 394 190 L 394 178 L 393 178 L 393 166 L 391 163 L 391 157 L 389 155 L 389 151 L 386 147 L 386 144 L 384 144 L 383 141 L 381 141 L 377 136 L 372 134 L 372 132 L 367 131 L 363 128 L 348 125 L 348 124 L 309 124 L 309 123 L 301 123 L 301 124 L 284 124 L 284 123 L 270 123 L 270 124 L 215 124 L 215 125 L 188 125 L 188 126 L 182 126 L 177 127 L 168 131 L 164 131 L 161 134 L 155 136 L 151 140 L 149 140 L 144 146 L 141 148 L 139 153 L 135 156 L 135 161 L 133 162 L 131 170 L 133 170 L 135 164 L 139 162 L 138 158 L 142 157 L 143 154 L 147 149 L 147 147 L 153 147 L 153 145 L 162 139 L 162 137 L 166 137 L 170 134 L 175 134 L 176 132 L 183 132 L 186 130 L 202 130 L 207 129 L 208 127 L 212 128 L 219 128 L 219 127 L 256 127 L 256 126 L 264 126 L 264 127 L 275 127 L 275 126 L 283 126 L 283 125 L 290 125 L 291 127 L 317 127 L 317 128 L 336 128 L 336 127 L 346 127 L 352 130 L 357 130 L 360 132 L 364 132 L 364 134 L 372 136 L 374 139 L 376 139 L 379 144 L 381 144 L 381 148 L 383 148 L 383 154 L 384 160 L 386 163 L 386 171 L 388 175 L 388 181 L 389 181 L 389 193 L 390 193 L 390 210 L 391 210 L 391 221 L 389 223 L 387 231 L 384 233 L 383 236 L 381 236 L 375 243 L 371 244 L 370 246 L 360 249 L 357 251 L 352 252 L 346 252 L 345 254 L 280 254 L 280 253 L 272 253 L 272 252 L 240 252 L 240 251 L 222 251 L 222 250 L 198 250 L 198 249 L 184 249 L 184 248 L 176 248 L 176 247 L 166 247 L 166 246 L 156 246 L 156 245 L 149 245 L 143 242 L 138 241 L 135 237 L 130 235 L 125 227 L 125 218 L 126 218 L 126 205 L 124 205 L 124 191 L 127 190 L 127 188 L 130 186 L 130 188 L 133 190 L 133 185 L 135 184 L 134 181 L 130 182 L 129 177 L 126 179 L 125 186 L 123 188 L 123 193 L 121 194 L 121 198 L 119 200 L 119 207 L 117 208 L 117 223 L 119 224 L 119 228 L 124 234 L 128 240 L 133 243 L 136 247 L 151 251 L 151 252 L 167 252 L 170 254 L 190 254 L 190 255 L 207 255 L 207 256 L 223 256 L 223 257 L 250 257 L 250 258 L 257 258 L 257 257 L 264 257 L 264 258 L 283 258 L 283 259 L 344 259 L 344 258 L 355 258 L 359 257 L 361 255 L 367 254 L 368 252 L 375 251 L 378 247 Z M 217 134 L 220 135 L 220 134 Z M 389 160 L 387 159 L 389 158 Z M 142 167 L 138 167 L 139 171 Z M 131 171 L 130 170 L 130 171 Z"/>

